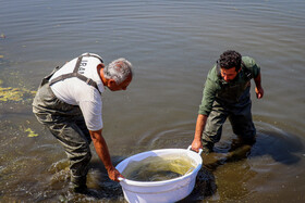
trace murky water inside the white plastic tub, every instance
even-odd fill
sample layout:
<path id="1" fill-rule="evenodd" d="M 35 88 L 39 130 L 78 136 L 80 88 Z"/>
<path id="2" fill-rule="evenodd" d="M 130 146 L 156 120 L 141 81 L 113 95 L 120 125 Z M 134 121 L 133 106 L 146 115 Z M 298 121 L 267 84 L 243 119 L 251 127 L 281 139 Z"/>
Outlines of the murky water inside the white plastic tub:
<path id="1" fill-rule="evenodd" d="M 149 156 L 132 161 L 123 170 L 123 176 L 135 181 L 162 181 L 192 173 L 195 163 L 186 155 L 174 154 Z"/>

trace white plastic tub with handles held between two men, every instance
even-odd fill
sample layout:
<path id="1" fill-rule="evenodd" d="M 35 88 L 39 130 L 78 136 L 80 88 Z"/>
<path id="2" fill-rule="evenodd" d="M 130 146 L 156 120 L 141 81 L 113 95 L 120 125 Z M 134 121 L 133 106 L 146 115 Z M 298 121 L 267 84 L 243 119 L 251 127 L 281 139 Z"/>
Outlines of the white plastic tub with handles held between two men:
<path id="1" fill-rule="evenodd" d="M 200 153 L 186 149 L 164 149 L 154 150 L 135 154 L 117 165 L 117 169 L 122 173 L 132 161 L 142 161 L 149 156 L 179 155 L 184 154 L 193 161 L 196 166 L 193 172 L 182 177 L 163 181 L 133 181 L 121 179 L 124 198 L 131 203 L 167 203 L 176 202 L 187 196 L 194 189 L 196 176 L 202 168 L 203 160 Z"/>

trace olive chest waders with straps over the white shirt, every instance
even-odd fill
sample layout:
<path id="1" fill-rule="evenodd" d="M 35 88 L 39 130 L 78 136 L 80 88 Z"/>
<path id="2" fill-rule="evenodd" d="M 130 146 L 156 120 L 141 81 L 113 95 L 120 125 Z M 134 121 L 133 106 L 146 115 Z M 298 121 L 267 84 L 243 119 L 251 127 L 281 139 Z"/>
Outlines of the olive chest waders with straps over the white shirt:
<path id="1" fill-rule="evenodd" d="M 71 105 L 59 100 L 50 86 L 66 78 L 77 77 L 89 86 L 97 88 L 94 80 L 77 73 L 82 58 L 81 55 L 77 59 L 73 73 L 61 75 L 49 81 L 52 75 L 60 69 L 59 66 L 56 67 L 51 74 L 42 79 L 33 101 L 33 113 L 38 122 L 49 128 L 69 157 L 71 188 L 74 191 L 86 189 L 86 175 L 91 158 L 89 148 L 91 139 L 81 109 L 77 105 Z M 99 60 L 101 61 L 101 59 Z"/>

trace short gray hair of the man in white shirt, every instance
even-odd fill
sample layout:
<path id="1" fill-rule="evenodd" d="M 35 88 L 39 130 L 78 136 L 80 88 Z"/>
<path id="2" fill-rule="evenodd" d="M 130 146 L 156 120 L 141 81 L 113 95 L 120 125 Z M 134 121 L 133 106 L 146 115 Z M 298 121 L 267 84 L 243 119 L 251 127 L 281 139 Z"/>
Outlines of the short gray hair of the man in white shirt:
<path id="1" fill-rule="evenodd" d="M 112 61 L 103 68 L 105 78 L 114 79 L 117 85 L 123 83 L 132 74 L 132 64 L 124 58 Z"/>

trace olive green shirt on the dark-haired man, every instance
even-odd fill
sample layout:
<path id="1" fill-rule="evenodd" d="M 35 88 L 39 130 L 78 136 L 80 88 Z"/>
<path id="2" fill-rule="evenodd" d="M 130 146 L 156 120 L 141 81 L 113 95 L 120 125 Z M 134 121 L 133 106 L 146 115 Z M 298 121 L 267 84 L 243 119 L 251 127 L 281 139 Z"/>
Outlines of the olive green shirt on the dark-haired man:
<path id="1" fill-rule="evenodd" d="M 249 80 L 259 75 L 260 67 L 254 59 L 243 56 L 241 68 L 236 77 L 229 83 L 223 80 L 217 65 L 209 71 L 198 114 L 209 115 L 215 100 L 223 104 L 234 104 L 239 103 L 245 94 L 248 94 Z"/>

